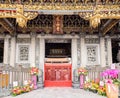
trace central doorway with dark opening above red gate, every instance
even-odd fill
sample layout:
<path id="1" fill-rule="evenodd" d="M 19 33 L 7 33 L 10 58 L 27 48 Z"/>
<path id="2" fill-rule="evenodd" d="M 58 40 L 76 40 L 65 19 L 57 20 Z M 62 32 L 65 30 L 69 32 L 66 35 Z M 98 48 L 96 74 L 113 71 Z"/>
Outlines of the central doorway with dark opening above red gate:
<path id="1" fill-rule="evenodd" d="M 45 86 L 72 86 L 71 40 L 45 43 Z"/>

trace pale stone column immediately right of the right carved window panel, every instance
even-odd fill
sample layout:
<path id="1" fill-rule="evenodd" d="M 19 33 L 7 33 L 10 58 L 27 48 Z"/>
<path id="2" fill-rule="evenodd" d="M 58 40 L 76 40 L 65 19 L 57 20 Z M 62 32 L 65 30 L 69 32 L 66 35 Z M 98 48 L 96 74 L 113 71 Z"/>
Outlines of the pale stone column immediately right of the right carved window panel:
<path id="1" fill-rule="evenodd" d="M 100 38 L 100 64 L 101 67 L 106 66 L 106 59 L 105 59 L 106 53 L 105 53 L 105 38 Z"/>

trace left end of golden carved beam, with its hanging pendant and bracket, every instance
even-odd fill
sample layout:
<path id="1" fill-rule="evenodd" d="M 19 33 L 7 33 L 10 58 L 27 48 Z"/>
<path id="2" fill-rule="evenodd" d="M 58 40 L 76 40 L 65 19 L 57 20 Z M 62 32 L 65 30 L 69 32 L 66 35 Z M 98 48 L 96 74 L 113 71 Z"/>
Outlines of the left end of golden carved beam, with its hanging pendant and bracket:
<path id="1" fill-rule="evenodd" d="M 0 8 L 4 6 L 7 7 L 6 4 L 0 5 Z M 38 13 L 37 12 L 25 12 L 24 11 L 24 6 L 21 4 L 16 4 L 16 5 L 8 5 L 9 8 L 5 8 L 8 10 L 2 10 L 0 12 L 0 18 L 16 18 L 16 22 L 18 23 L 19 26 L 21 27 L 26 27 L 27 21 L 34 19 L 37 17 Z M 12 7 L 13 6 L 13 7 Z M 9 10 L 10 8 L 15 8 L 13 10 Z"/>

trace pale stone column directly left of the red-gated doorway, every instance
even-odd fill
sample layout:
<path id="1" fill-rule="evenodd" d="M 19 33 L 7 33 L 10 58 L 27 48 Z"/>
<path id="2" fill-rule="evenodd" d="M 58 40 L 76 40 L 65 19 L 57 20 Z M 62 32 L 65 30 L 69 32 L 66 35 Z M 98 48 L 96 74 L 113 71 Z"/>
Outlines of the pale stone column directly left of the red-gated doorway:
<path id="1" fill-rule="evenodd" d="M 45 39 L 40 38 L 40 65 L 39 68 L 43 70 L 44 73 L 44 58 L 45 58 Z"/>

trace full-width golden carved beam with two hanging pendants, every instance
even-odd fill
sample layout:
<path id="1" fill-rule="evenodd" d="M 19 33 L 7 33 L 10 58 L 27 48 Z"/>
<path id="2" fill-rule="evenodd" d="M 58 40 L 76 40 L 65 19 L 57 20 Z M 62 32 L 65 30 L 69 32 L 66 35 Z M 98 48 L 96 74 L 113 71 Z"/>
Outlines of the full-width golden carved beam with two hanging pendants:
<path id="1" fill-rule="evenodd" d="M 88 0 L 85 0 L 88 2 Z M 77 13 L 80 17 L 90 20 L 91 26 L 96 28 L 101 19 L 120 19 L 120 5 L 47 5 L 47 4 L 0 4 L 0 18 L 16 18 L 19 26 L 25 27 L 28 20 L 34 19 L 38 13 L 58 12 L 63 15 Z M 66 13 L 64 11 L 67 11 Z M 71 13 L 69 12 L 71 11 Z M 58 13 L 60 15 L 60 13 Z"/>

